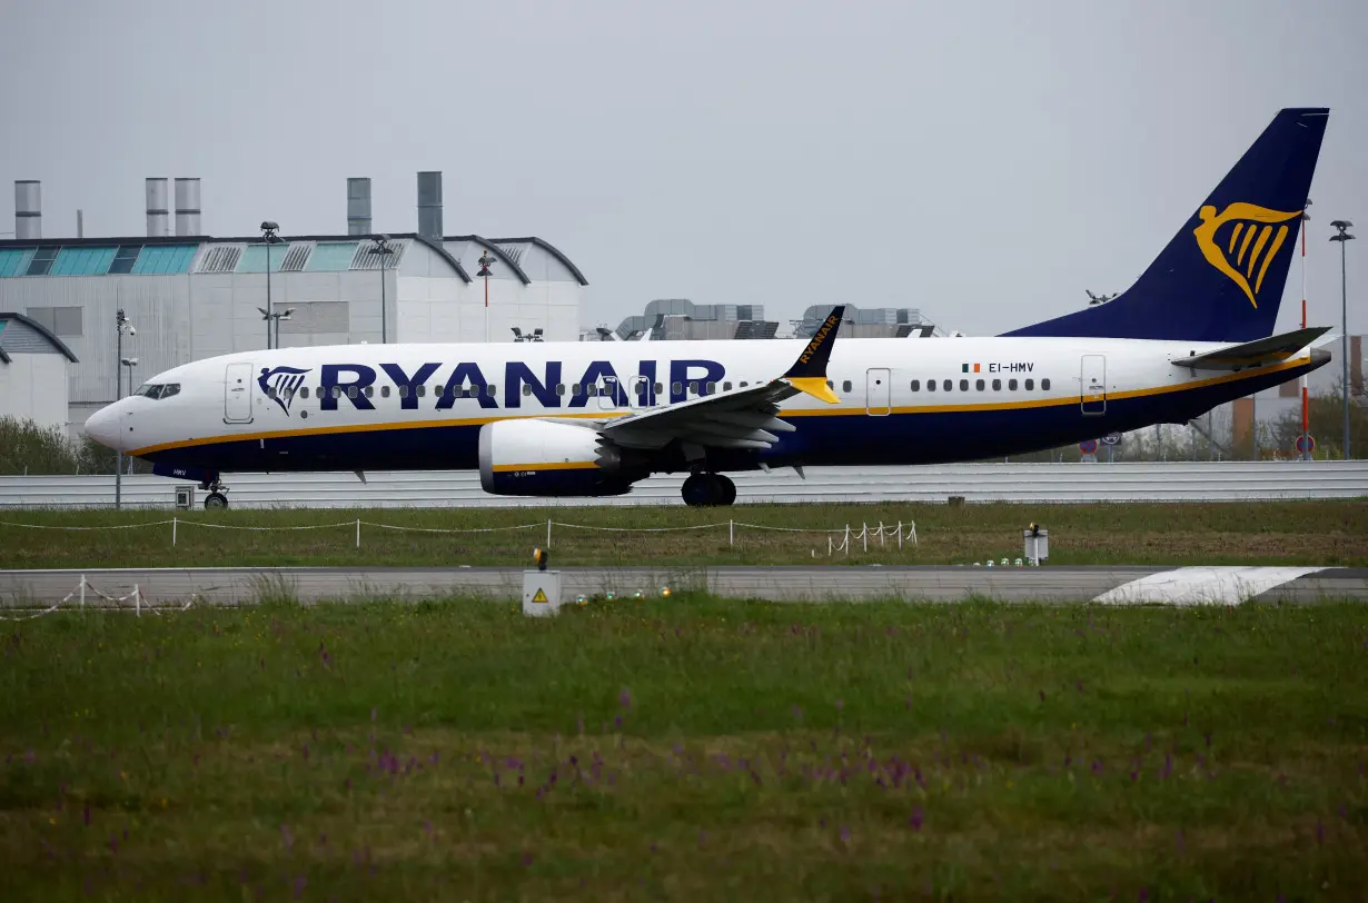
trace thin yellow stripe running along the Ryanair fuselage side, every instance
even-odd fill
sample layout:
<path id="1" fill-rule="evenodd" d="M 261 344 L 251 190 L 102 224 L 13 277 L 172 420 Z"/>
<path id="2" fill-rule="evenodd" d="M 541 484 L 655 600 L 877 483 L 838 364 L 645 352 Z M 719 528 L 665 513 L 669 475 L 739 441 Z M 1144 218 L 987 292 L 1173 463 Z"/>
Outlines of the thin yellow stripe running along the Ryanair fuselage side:
<path id="1" fill-rule="evenodd" d="M 1309 364 L 1311 357 L 1298 357 L 1295 360 L 1283 361 L 1274 367 L 1263 367 L 1259 369 L 1246 369 L 1238 374 L 1223 374 L 1220 376 L 1211 376 L 1208 379 L 1197 379 L 1186 383 L 1175 383 L 1172 386 L 1156 386 L 1152 389 L 1134 389 L 1130 391 L 1116 391 L 1108 393 L 1107 398 L 1109 401 L 1116 401 L 1120 398 L 1146 398 L 1153 395 L 1167 395 L 1174 393 L 1190 391 L 1193 389 L 1204 389 L 1207 386 L 1216 386 L 1220 383 L 1237 382 L 1241 379 L 1250 379 L 1253 376 L 1263 376 L 1267 374 L 1276 374 L 1285 369 L 1291 369 L 1294 367 L 1301 367 Z M 1055 397 L 1055 398 L 1033 398 L 1030 401 L 1000 401 L 988 402 L 978 405 L 917 405 L 907 408 L 893 408 L 892 413 L 955 413 L 967 410 L 1018 410 L 1025 408 L 1052 408 L 1059 405 L 1077 405 L 1079 404 L 1078 395 Z M 586 419 L 586 420 L 607 420 L 613 417 L 624 417 L 632 413 L 631 410 L 595 410 L 595 412 L 581 412 L 581 413 L 557 413 L 557 412 L 542 412 L 535 415 L 516 415 L 516 417 L 542 417 L 542 419 Z M 781 410 L 780 417 L 852 417 L 865 416 L 863 406 L 850 406 L 850 408 L 793 408 Z M 294 436 L 309 436 L 309 435 L 337 435 L 343 432 L 383 432 L 387 430 L 428 430 L 436 427 L 476 427 L 486 423 L 492 423 L 495 420 L 512 420 L 506 415 L 495 417 L 462 417 L 451 420 L 415 420 L 415 421 L 401 421 L 401 423 L 353 423 L 335 427 L 309 427 L 305 430 L 275 430 L 271 432 L 244 432 L 241 435 L 231 436 L 209 436 L 202 439 L 186 439 L 182 442 L 166 442 L 161 445 L 150 445 L 142 449 L 135 449 L 127 452 L 126 454 L 144 456 L 153 454 L 156 452 L 168 452 L 171 449 L 189 449 L 201 445 L 224 445 L 228 442 L 254 442 L 257 439 L 282 439 Z"/>

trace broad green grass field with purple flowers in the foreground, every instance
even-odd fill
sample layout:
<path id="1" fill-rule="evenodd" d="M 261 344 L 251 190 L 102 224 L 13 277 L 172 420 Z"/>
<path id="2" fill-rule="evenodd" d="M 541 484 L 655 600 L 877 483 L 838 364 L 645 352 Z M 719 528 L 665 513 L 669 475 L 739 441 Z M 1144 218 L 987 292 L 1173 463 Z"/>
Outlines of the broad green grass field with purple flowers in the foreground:
<path id="1" fill-rule="evenodd" d="M 1368 885 L 1350 605 L 267 605 L 0 646 L 4 899 Z"/>

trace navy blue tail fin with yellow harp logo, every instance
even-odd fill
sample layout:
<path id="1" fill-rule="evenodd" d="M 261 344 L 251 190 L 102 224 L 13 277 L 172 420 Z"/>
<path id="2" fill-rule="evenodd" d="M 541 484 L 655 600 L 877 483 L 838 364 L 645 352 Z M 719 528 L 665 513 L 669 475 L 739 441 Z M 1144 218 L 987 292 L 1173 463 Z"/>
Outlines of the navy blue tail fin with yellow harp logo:
<path id="1" fill-rule="evenodd" d="M 1248 342 L 1272 335 L 1330 111 L 1283 109 L 1112 301 L 1004 335 Z"/>

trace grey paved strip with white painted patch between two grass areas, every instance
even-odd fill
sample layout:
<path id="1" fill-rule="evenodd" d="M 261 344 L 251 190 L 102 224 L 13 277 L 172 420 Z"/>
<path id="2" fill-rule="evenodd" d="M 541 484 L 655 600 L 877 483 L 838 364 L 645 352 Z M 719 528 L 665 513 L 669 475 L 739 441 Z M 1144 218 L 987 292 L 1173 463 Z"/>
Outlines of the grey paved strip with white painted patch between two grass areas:
<path id="1" fill-rule="evenodd" d="M 119 568 L 0 571 L 0 606 L 47 607 L 67 601 L 144 606 L 419 601 L 468 597 L 512 602 L 521 568 Z M 774 566 L 561 568 L 566 602 L 613 592 L 631 598 L 707 591 L 733 599 L 859 602 L 1099 602 L 1114 605 L 1239 605 L 1368 602 L 1368 568 L 1042 566 Z M 81 587 L 85 587 L 82 597 Z"/>

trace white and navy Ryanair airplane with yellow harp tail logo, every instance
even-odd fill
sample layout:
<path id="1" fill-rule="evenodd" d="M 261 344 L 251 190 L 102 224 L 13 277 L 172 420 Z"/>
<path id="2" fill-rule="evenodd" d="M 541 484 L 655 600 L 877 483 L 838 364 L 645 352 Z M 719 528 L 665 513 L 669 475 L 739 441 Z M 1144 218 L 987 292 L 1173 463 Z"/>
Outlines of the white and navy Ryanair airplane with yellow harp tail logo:
<path id="1" fill-rule="evenodd" d="M 86 432 L 198 480 L 477 469 L 484 491 L 607 497 L 687 472 L 934 464 L 1187 423 L 1330 361 L 1328 327 L 1274 335 L 1328 109 L 1276 114 L 1119 297 L 984 338 L 391 343 L 252 350 L 175 367 Z M 915 479 L 915 477 L 914 477 Z"/>

